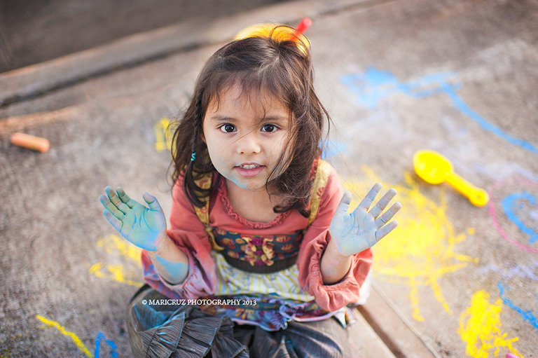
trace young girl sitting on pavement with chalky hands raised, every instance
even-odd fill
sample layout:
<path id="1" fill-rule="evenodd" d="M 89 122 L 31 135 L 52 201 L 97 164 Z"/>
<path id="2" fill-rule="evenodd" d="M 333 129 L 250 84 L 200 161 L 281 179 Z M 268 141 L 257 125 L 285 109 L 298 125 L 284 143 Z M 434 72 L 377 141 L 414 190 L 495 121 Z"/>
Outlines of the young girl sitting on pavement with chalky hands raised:
<path id="1" fill-rule="evenodd" d="M 233 41 L 202 69 L 174 132 L 170 228 L 106 187 L 104 216 L 144 249 L 128 308 L 136 357 L 348 357 L 371 247 L 396 227 L 375 184 L 347 214 L 318 147 L 329 116 L 304 38 L 277 27 Z M 385 212 L 384 212 L 385 211 Z M 235 322 L 235 323 L 232 323 Z"/>

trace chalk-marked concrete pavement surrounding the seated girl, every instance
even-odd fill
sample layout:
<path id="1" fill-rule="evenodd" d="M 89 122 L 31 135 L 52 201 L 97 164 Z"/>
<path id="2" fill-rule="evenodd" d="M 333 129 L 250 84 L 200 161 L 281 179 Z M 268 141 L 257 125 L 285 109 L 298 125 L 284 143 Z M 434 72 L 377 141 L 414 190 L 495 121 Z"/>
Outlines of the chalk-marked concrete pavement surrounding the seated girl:
<path id="1" fill-rule="evenodd" d="M 366 321 L 396 357 L 537 357 L 532 0 L 292 1 L 216 21 L 205 46 L 1 107 L 0 357 L 130 356 L 125 307 L 141 282 L 139 253 L 97 198 L 120 185 L 139 200 L 153 193 L 168 212 L 161 119 L 184 108 L 202 62 L 242 24 L 305 15 L 334 122 L 327 159 L 357 198 L 382 181 L 403 204 L 399 228 L 374 250 Z M 3 85 L 12 79 L 0 74 L 0 88 L 16 90 Z M 50 150 L 12 146 L 15 131 L 48 138 Z M 488 205 L 419 179 L 421 149 L 485 188 Z M 368 334 L 357 354 L 387 354 Z"/>

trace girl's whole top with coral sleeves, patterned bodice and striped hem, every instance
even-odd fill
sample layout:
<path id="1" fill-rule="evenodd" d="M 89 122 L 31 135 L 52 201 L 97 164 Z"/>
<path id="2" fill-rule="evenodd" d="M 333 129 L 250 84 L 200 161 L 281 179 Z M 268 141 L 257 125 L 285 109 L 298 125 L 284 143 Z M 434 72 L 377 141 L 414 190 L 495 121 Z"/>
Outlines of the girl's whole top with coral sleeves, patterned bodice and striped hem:
<path id="1" fill-rule="evenodd" d="M 317 163 L 313 173 L 316 168 Z M 219 180 L 219 174 L 213 180 Z M 248 221 L 231 207 L 226 181 L 221 179 L 207 209 L 214 237 L 210 239 L 179 182 L 174 189 L 168 235 L 188 256 L 189 275 L 181 284 L 172 285 L 160 277 L 143 252 L 144 280 L 169 298 L 206 298 L 200 300 L 203 311 L 267 331 L 285 329 L 291 319 L 308 322 L 331 316 L 345 326 L 350 321 L 347 305 L 364 296 L 372 252 L 367 249 L 354 255 L 350 271 L 340 282 L 323 284 L 320 261 L 331 238 L 329 224 L 342 197 L 332 168 L 326 185 L 315 195 L 319 195 L 319 208 L 310 225 L 296 211 L 279 214 L 269 223 Z M 296 262 L 270 273 L 249 272 L 230 264 L 241 261 L 243 267 L 270 267 L 283 260 Z"/>

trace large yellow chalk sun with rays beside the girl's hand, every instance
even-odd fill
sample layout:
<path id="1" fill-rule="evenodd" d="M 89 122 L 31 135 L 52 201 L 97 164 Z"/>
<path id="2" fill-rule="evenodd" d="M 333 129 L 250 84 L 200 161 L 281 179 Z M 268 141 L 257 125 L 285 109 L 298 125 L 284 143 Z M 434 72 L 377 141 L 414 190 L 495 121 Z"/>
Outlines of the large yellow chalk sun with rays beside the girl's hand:
<path id="1" fill-rule="evenodd" d="M 354 194 L 366 195 L 373 183 L 382 182 L 369 167 L 362 167 L 368 180 L 345 181 L 343 186 Z M 448 273 L 460 270 L 469 262 L 478 262 L 474 257 L 457 254 L 455 246 L 465 240 L 465 234 L 455 235 L 452 223 L 446 216 L 446 201 L 441 194 L 439 204 L 420 193 L 420 185 L 410 174 L 404 174 L 406 185 L 382 183 L 398 191 L 397 200 L 402 209 L 396 214 L 398 228 L 373 247 L 375 267 L 373 273 L 380 280 L 409 284 L 409 299 L 413 318 L 423 321 L 420 314 L 418 288 L 430 287 L 434 297 L 446 312 L 453 314 L 443 297 L 439 279 Z M 354 198 L 350 209 L 359 205 Z M 469 233 L 473 228 L 467 230 Z"/>

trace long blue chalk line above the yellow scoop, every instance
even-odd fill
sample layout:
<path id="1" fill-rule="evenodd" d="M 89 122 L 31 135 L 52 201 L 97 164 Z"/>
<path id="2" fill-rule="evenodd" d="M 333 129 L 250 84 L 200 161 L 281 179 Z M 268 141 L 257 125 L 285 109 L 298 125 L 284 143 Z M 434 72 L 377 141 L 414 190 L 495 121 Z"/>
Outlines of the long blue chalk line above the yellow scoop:
<path id="1" fill-rule="evenodd" d="M 473 111 L 464 100 L 457 94 L 462 88 L 460 83 L 450 83 L 449 80 L 456 76 L 456 72 L 441 72 L 423 76 L 415 81 L 402 83 L 390 71 L 380 71 L 375 67 L 368 67 L 362 74 L 347 74 L 340 77 L 340 82 L 357 95 L 357 102 L 369 109 L 376 109 L 380 99 L 403 93 L 412 98 L 423 98 L 432 95 L 448 95 L 455 109 L 471 118 L 483 130 L 487 130 L 499 138 L 513 145 L 520 146 L 531 153 L 538 154 L 538 148 L 504 132 L 496 125 L 490 123 L 478 113 Z"/>

